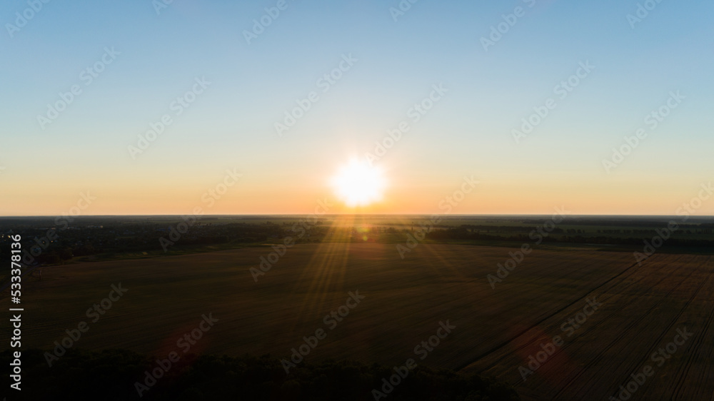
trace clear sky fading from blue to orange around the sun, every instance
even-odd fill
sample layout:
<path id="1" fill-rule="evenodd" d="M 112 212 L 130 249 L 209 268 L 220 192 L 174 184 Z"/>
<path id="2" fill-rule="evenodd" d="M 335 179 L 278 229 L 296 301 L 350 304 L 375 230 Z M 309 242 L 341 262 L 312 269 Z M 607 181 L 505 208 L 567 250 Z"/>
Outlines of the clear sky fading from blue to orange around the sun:
<path id="1" fill-rule="evenodd" d="M 0 215 L 714 215 L 712 2 L 166 3 L 0 4 Z"/>

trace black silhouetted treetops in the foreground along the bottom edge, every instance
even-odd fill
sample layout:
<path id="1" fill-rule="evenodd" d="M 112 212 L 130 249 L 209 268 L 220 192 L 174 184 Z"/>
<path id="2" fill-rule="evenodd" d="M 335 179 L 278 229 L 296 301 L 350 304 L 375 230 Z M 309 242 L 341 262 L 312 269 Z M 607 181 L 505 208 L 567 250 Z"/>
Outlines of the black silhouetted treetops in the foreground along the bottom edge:
<path id="1" fill-rule="evenodd" d="M 184 355 L 162 370 L 158 379 L 149 380 L 147 386 L 147 372 L 160 369 L 154 357 L 126 350 L 71 349 L 48 367 L 43 355 L 41 350 L 22 351 L 23 400 L 366 401 L 374 400 L 372 391 L 381 389 L 383 379 L 394 374 L 392 367 L 384 365 L 328 361 L 316 365 L 303 363 L 286 375 L 281 362 L 268 355 Z M 11 362 L 10 350 L 0 353 L 1 365 L 9 366 Z M 5 381 L 10 380 L 8 375 L 3 376 Z M 8 389 L 9 383 L 4 388 Z M 141 389 L 141 398 L 137 388 Z M 380 399 L 520 400 L 509 385 L 477 375 L 421 366 Z"/>

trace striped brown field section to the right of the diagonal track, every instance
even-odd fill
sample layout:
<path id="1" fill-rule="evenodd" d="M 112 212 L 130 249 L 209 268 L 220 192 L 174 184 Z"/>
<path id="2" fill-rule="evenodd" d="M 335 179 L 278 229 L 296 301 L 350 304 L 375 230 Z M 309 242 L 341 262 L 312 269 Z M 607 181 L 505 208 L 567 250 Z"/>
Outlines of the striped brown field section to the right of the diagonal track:
<path id="1" fill-rule="evenodd" d="M 655 255 L 464 370 L 511 382 L 523 400 L 710 400 L 713 272 L 711 256 Z"/>

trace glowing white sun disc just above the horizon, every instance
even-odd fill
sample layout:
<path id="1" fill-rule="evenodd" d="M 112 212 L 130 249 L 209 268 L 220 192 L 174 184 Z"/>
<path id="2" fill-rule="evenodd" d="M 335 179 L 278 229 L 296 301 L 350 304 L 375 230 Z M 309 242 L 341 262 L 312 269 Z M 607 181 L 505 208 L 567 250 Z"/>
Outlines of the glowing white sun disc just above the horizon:
<path id="1" fill-rule="evenodd" d="M 339 169 L 331 184 L 336 196 L 353 208 L 381 200 L 386 180 L 380 168 L 353 160 Z"/>

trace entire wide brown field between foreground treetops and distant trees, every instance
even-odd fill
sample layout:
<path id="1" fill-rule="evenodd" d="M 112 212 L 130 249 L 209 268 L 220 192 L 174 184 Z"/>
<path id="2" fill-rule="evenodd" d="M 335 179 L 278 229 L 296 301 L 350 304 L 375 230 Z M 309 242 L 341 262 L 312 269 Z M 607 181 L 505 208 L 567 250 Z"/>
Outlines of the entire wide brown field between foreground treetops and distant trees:
<path id="1" fill-rule="evenodd" d="M 655 254 L 638 265 L 631 252 L 587 248 L 535 249 L 522 260 L 519 248 L 431 243 L 404 258 L 385 243 L 294 245 L 277 260 L 271 252 L 45 267 L 41 280 L 25 283 L 23 347 L 51 351 L 85 322 L 89 330 L 72 347 L 166 357 L 211 316 L 191 352 L 288 360 L 323 330 L 305 362 L 396 366 L 413 358 L 496 377 L 523 400 L 618 397 L 645 365 L 652 375 L 633 400 L 710 400 L 714 390 L 710 255 Z M 273 261 L 265 271 L 261 257 Z M 512 258 L 516 267 L 492 286 L 488 275 Z M 120 283 L 126 293 L 105 309 Z M 103 314 L 89 317 L 95 304 Z M 678 330 L 693 334 L 658 366 L 650 355 Z M 436 334 L 438 345 L 421 345 Z M 555 336 L 562 343 L 548 346 Z M 553 352 L 544 360 L 540 350 Z M 529 355 L 541 362 L 524 380 Z"/>

